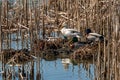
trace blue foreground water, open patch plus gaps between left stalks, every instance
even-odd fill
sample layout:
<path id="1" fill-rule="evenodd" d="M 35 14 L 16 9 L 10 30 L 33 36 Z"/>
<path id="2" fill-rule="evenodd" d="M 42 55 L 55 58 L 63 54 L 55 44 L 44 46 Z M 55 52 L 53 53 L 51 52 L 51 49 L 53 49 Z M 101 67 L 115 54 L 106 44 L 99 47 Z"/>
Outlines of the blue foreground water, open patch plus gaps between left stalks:
<path id="1" fill-rule="evenodd" d="M 69 60 L 67 58 L 67 60 Z M 38 80 L 37 76 L 37 61 L 34 61 L 34 80 Z M 28 80 L 30 79 L 30 71 L 32 67 L 30 66 L 32 62 L 28 62 L 24 65 L 24 71 L 28 74 Z M 2 65 L 2 63 L 0 63 Z M 85 68 L 85 65 L 88 66 Z M 23 65 L 20 67 L 6 65 L 6 69 L 12 71 L 12 75 L 14 79 L 12 80 L 20 80 L 18 77 L 18 68 L 22 69 Z M 57 59 L 53 61 L 46 61 L 44 59 L 40 60 L 40 80 L 94 80 L 94 64 L 87 62 L 85 63 L 77 63 L 74 65 L 71 62 L 63 63 L 62 59 Z M 0 80 L 4 80 L 3 76 L 0 75 Z"/>

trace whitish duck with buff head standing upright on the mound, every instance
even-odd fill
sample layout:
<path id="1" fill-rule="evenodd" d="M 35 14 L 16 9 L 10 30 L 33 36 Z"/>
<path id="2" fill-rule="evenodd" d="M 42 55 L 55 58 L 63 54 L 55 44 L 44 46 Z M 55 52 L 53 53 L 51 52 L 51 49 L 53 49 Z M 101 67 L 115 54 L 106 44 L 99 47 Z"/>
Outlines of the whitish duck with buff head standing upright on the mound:
<path id="1" fill-rule="evenodd" d="M 78 39 L 82 38 L 82 34 L 73 28 L 68 28 L 67 24 L 63 24 L 63 28 L 60 30 L 64 38 L 73 38 L 77 37 Z"/>

